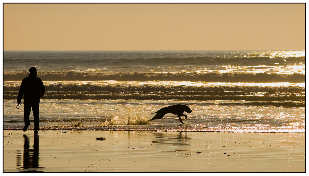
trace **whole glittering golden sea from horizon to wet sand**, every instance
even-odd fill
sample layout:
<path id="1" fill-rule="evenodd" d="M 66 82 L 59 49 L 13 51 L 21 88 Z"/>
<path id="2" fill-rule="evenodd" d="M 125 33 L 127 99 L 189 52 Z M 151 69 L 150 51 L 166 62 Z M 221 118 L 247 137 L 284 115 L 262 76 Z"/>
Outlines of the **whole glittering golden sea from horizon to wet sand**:
<path id="1" fill-rule="evenodd" d="M 3 61 L 4 129 L 23 128 L 16 99 L 34 66 L 43 130 L 305 132 L 305 51 L 4 51 Z M 149 121 L 175 104 L 192 110 L 184 125 Z"/>

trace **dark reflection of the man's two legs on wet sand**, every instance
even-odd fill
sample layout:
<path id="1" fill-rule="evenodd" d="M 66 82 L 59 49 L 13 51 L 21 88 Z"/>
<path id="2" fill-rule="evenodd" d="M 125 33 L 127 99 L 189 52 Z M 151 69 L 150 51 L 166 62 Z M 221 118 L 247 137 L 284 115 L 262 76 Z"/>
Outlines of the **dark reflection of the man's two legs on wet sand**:
<path id="1" fill-rule="evenodd" d="M 23 169 L 39 168 L 39 135 L 34 134 L 33 148 L 29 147 L 29 137 L 23 135 L 24 146 L 23 146 Z M 20 166 L 17 166 L 20 167 Z M 36 170 L 34 170 L 36 171 Z"/>

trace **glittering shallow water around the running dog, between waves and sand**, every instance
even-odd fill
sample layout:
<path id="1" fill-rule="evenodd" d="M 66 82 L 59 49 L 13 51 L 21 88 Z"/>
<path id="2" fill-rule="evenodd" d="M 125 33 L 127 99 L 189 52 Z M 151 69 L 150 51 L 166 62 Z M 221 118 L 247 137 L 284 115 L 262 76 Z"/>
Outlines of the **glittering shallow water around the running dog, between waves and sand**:
<path id="1" fill-rule="evenodd" d="M 48 100 L 40 103 L 41 129 L 137 131 L 305 132 L 305 107 L 248 101 Z M 3 102 L 3 129 L 23 128 L 23 105 Z M 148 121 L 162 107 L 188 104 L 188 119 L 166 114 Z M 32 119 L 32 114 L 30 119 Z M 33 119 L 32 119 L 33 121 Z M 31 121 L 31 122 L 32 122 Z M 31 123 L 29 129 L 33 128 Z"/>

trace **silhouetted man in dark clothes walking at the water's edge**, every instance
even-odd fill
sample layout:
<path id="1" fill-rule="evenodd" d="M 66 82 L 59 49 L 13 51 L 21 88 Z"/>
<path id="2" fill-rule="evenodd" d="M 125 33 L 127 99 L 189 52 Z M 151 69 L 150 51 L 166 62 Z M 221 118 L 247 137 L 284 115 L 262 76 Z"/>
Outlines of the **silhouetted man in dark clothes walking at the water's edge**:
<path id="1" fill-rule="evenodd" d="M 21 98 L 23 97 L 23 119 L 25 121 L 25 126 L 23 131 L 27 131 L 28 126 L 30 125 L 29 115 L 32 108 L 33 119 L 34 119 L 34 133 L 37 133 L 39 130 L 39 103 L 40 97 L 43 97 L 45 93 L 45 87 L 40 78 L 36 77 L 37 71 L 35 67 L 29 69 L 30 74 L 28 77 L 23 78 L 21 82 L 19 93 L 17 97 L 17 103 L 21 104 Z"/>

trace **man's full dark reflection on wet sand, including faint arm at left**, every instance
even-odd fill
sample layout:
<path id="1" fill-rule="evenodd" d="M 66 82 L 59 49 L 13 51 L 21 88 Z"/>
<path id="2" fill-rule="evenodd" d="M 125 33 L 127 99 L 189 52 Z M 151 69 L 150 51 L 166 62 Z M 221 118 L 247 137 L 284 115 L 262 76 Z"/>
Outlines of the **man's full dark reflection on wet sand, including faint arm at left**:
<path id="1" fill-rule="evenodd" d="M 24 134 L 24 147 L 23 147 L 23 166 L 21 166 L 21 154 L 17 153 L 16 167 L 21 172 L 38 172 L 39 168 L 39 135 L 34 134 L 33 148 L 30 148 L 29 137 Z"/>

